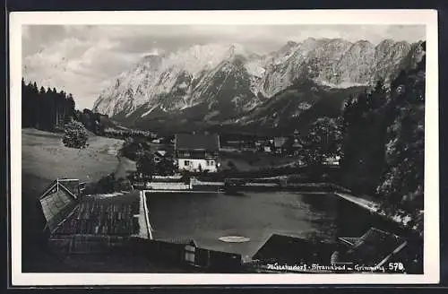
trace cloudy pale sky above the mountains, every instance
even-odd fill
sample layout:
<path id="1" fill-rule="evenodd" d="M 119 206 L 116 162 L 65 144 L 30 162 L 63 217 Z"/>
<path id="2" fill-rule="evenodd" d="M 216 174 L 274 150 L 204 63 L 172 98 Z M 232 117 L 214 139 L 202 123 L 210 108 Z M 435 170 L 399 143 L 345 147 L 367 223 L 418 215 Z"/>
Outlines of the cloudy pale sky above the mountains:
<path id="1" fill-rule="evenodd" d="M 424 26 L 382 25 L 29 25 L 22 27 L 22 68 L 27 79 L 73 93 L 76 108 L 91 108 L 113 78 L 154 50 L 195 44 L 239 43 L 258 54 L 289 40 L 342 38 L 415 42 Z"/>

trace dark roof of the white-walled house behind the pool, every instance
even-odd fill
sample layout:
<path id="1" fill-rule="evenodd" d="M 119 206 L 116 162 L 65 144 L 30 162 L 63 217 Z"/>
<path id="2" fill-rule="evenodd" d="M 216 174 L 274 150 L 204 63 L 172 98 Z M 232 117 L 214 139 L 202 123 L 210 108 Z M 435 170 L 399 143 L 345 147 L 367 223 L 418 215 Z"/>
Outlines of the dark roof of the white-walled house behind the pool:
<path id="1" fill-rule="evenodd" d="M 176 150 L 220 150 L 220 136 L 217 134 L 176 134 Z"/>

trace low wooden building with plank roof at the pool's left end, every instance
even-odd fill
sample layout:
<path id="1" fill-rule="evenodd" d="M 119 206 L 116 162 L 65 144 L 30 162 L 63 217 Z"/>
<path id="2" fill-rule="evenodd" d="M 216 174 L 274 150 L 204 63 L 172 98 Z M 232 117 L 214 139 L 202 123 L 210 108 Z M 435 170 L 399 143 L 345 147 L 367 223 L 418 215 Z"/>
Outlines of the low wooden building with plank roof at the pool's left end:
<path id="1" fill-rule="evenodd" d="M 51 250 L 100 253 L 131 238 L 152 238 L 146 200 L 140 193 L 82 196 L 73 193 L 75 186 L 76 180 L 56 180 L 40 197 Z"/>

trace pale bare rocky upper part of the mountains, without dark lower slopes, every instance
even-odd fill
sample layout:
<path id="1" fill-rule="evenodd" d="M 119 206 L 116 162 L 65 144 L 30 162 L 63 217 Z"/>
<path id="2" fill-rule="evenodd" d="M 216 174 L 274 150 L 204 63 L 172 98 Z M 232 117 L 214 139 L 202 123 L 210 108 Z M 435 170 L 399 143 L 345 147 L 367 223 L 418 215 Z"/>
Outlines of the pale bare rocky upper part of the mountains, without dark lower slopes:
<path id="1" fill-rule="evenodd" d="M 243 115 L 300 81 L 349 88 L 387 80 L 418 56 L 416 46 L 392 39 L 376 46 L 363 39 L 290 40 L 264 56 L 237 43 L 195 45 L 144 56 L 101 92 L 94 109 L 130 123 L 189 109 L 202 120 L 220 121 Z"/>

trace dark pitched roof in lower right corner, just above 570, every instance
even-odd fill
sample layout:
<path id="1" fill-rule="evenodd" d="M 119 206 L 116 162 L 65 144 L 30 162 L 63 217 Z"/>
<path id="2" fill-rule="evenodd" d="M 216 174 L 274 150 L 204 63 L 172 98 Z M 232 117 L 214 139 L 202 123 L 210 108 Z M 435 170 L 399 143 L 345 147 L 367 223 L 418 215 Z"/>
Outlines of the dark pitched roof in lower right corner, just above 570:
<path id="1" fill-rule="evenodd" d="M 369 229 L 362 237 L 351 240 L 355 243 L 349 248 L 345 259 L 365 265 L 379 264 L 406 242 L 397 235 L 375 228 Z"/>

